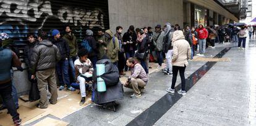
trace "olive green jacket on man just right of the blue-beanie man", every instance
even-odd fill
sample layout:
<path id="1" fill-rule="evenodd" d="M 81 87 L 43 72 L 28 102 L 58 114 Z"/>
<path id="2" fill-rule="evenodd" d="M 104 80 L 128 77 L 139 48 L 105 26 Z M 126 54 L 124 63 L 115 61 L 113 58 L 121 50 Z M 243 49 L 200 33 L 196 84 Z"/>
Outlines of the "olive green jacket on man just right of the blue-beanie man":
<path id="1" fill-rule="evenodd" d="M 62 39 L 64 39 L 69 44 L 69 49 L 70 49 L 69 57 L 75 57 L 79 50 L 77 45 L 77 37 L 75 37 L 74 34 L 72 34 L 71 36 L 69 34 L 64 34 Z"/>

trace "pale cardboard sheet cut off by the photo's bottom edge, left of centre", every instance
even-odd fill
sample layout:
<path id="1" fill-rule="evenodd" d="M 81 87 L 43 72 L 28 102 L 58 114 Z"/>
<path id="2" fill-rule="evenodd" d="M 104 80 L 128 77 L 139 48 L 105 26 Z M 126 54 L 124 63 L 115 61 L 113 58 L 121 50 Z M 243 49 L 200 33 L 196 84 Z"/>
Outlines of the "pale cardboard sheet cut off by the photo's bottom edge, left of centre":
<path id="1" fill-rule="evenodd" d="M 40 120 L 40 122 L 36 123 L 34 126 L 66 126 L 69 123 L 63 122 L 61 120 L 52 119 L 50 117 L 46 117 L 43 120 Z"/>

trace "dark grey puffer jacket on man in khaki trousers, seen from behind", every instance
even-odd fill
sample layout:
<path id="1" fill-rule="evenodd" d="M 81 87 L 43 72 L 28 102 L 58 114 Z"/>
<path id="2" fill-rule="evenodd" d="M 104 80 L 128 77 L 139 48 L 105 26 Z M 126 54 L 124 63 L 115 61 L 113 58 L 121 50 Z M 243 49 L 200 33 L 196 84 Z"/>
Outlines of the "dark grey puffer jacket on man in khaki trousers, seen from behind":
<path id="1" fill-rule="evenodd" d="M 61 60 L 61 53 L 58 47 L 51 41 L 43 40 L 33 49 L 30 73 L 35 74 L 36 71 L 55 68 L 59 60 Z"/>

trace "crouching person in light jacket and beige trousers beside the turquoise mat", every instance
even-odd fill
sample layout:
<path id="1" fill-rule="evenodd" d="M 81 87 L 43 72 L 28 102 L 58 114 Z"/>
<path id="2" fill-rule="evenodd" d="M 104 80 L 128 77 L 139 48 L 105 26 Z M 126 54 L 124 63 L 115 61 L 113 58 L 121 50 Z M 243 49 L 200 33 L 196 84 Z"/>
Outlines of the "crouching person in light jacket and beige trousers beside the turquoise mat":
<path id="1" fill-rule="evenodd" d="M 142 95 L 141 92 L 145 89 L 145 86 L 148 83 L 148 76 L 142 68 L 142 65 L 134 60 L 134 58 L 129 58 L 126 61 L 126 65 L 132 69 L 132 72 L 126 83 L 123 85 L 124 87 L 134 90 L 134 94 L 130 95 L 131 98 L 137 98 Z"/>

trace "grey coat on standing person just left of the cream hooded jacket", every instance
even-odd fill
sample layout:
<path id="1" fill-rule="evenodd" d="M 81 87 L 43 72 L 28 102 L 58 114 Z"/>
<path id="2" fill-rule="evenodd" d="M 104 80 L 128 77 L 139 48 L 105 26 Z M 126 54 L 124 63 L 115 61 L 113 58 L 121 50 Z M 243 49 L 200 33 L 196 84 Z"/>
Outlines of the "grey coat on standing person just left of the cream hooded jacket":
<path id="1" fill-rule="evenodd" d="M 159 37 L 158 37 L 158 35 L 159 35 Z M 153 33 L 153 44 L 156 47 L 156 51 L 163 50 L 163 38 L 164 38 L 164 31 L 160 31 L 158 33 L 156 33 L 156 32 Z"/>

